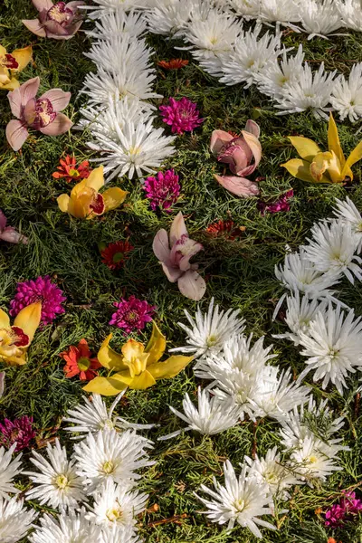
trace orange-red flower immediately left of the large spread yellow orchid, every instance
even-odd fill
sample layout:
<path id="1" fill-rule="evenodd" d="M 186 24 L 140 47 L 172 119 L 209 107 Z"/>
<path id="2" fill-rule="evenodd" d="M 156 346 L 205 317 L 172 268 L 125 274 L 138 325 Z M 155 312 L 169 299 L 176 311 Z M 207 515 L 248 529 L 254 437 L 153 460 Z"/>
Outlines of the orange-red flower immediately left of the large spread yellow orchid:
<path id="1" fill-rule="evenodd" d="M 91 381 L 98 373 L 94 371 L 101 367 L 98 358 L 91 358 L 90 348 L 86 339 L 81 339 L 78 347 L 71 345 L 67 351 L 60 354 L 66 365 L 63 367 L 65 376 L 70 379 L 79 376 L 81 381 Z"/>

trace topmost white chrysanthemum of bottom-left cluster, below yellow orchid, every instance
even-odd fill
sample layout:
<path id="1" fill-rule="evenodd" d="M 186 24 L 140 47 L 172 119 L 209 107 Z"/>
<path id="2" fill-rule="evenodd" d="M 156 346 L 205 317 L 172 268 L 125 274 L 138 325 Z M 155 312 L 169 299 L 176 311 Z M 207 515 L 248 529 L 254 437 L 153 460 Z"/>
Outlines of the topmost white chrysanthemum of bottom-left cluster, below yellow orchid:
<path id="1" fill-rule="evenodd" d="M 84 396 L 84 404 L 69 409 L 67 411 L 68 416 L 62 419 L 64 422 L 75 424 L 75 426 L 68 426 L 64 430 L 71 433 L 88 434 L 90 432 L 96 433 L 103 430 L 103 428 L 114 428 L 115 430 L 125 430 L 127 428 L 148 430 L 153 428 L 154 424 L 132 424 L 120 416 L 113 416 L 113 411 L 124 393 L 125 390 L 119 393 L 112 405 L 110 405 L 110 410 L 107 410 L 107 405 L 100 394 L 93 394 L 91 398 Z M 72 437 L 72 439 L 82 439 L 83 437 L 83 435 L 78 435 Z"/>

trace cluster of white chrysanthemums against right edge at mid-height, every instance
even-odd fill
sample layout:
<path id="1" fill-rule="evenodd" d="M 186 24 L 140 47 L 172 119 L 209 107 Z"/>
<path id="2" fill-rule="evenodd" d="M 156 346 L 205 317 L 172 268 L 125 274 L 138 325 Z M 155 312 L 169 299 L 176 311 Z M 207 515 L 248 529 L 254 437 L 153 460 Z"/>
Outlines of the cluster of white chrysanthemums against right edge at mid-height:
<path id="1" fill-rule="evenodd" d="M 315 224 L 309 243 L 276 267 L 276 277 L 289 293 L 274 315 L 286 299 L 285 323 L 291 331 L 276 337 L 303 348 L 306 368 L 299 382 L 313 372 L 314 381 L 322 379 L 322 388 L 332 383 L 342 395 L 348 375 L 362 370 L 362 320 L 330 288 L 343 276 L 352 283 L 362 280 L 362 216 L 349 198 L 337 200 L 334 214 L 336 218 Z"/>

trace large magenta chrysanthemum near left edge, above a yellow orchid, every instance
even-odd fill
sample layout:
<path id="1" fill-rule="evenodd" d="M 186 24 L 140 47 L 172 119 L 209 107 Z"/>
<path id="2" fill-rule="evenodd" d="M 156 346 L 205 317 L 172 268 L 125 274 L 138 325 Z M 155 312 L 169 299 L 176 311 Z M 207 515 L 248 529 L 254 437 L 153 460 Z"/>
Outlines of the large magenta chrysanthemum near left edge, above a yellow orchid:
<path id="1" fill-rule="evenodd" d="M 36 301 L 42 302 L 43 326 L 50 324 L 57 315 L 65 312 L 62 302 L 66 298 L 61 289 L 51 281 L 49 275 L 35 280 L 17 283 L 14 300 L 10 302 L 10 315 L 15 317 L 20 310 Z"/>

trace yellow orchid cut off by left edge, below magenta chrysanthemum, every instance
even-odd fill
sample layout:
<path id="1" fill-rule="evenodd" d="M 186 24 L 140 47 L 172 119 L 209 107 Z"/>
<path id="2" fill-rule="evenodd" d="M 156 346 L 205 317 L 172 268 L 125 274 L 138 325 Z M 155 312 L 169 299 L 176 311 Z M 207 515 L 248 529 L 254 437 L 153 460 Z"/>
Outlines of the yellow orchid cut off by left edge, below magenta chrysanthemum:
<path id="1" fill-rule="evenodd" d="M 5 311 L 0 310 L 0 362 L 9 366 L 26 364 L 26 351 L 33 341 L 41 316 L 40 301 L 19 311 L 14 319 L 14 326 L 10 326 L 10 319 Z"/>

